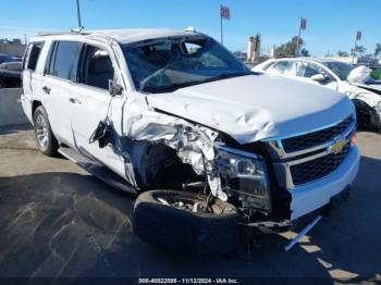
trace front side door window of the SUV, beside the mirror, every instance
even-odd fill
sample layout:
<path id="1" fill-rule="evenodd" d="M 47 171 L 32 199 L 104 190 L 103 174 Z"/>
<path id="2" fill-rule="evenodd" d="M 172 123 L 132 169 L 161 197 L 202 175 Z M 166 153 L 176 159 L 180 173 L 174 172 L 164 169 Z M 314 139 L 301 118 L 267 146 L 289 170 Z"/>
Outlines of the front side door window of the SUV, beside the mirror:
<path id="1" fill-rule="evenodd" d="M 106 50 L 94 46 L 86 46 L 81 64 L 79 83 L 109 89 L 109 80 L 114 77 L 114 69 Z"/>

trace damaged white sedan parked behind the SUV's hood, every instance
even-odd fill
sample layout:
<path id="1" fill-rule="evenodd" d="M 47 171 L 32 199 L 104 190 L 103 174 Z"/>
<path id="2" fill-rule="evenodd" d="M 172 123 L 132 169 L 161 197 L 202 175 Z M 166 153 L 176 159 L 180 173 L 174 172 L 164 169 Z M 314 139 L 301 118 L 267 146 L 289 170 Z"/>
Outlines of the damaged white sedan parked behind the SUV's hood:
<path id="1" fill-rule="evenodd" d="M 356 106 L 360 126 L 381 131 L 381 96 L 371 84 L 347 80 L 354 65 L 317 58 L 271 59 L 253 69 L 255 72 L 287 77 L 323 86 L 347 95 Z M 373 83 L 374 85 L 374 83 Z"/>

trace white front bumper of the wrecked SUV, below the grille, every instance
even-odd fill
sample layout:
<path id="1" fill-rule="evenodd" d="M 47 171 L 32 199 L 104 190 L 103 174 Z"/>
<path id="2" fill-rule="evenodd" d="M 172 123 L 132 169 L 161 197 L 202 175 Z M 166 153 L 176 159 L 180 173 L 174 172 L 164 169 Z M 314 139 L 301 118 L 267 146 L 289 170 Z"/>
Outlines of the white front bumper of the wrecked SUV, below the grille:
<path id="1" fill-rule="evenodd" d="M 294 222 L 330 205 L 333 197 L 346 190 L 355 179 L 359 169 L 360 154 L 356 146 L 351 150 L 334 173 L 291 190 L 291 221 Z"/>

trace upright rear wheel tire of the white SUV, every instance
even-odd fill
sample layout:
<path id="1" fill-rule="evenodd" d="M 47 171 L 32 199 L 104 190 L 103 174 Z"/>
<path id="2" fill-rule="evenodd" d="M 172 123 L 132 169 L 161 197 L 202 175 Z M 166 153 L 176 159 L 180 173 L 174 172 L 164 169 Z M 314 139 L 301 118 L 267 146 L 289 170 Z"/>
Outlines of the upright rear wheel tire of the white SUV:
<path id="1" fill-rule="evenodd" d="M 44 136 L 46 137 L 46 141 L 41 141 L 40 139 L 40 124 L 42 124 L 40 121 L 45 122 L 45 131 L 44 131 Z M 51 132 L 49 119 L 48 119 L 48 113 L 45 110 L 42 106 L 37 107 L 33 114 L 33 122 L 34 122 L 34 127 L 35 127 L 35 136 L 36 136 L 36 142 L 38 149 L 46 156 L 48 157 L 53 157 L 57 154 L 58 150 L 58 141 Z"/>

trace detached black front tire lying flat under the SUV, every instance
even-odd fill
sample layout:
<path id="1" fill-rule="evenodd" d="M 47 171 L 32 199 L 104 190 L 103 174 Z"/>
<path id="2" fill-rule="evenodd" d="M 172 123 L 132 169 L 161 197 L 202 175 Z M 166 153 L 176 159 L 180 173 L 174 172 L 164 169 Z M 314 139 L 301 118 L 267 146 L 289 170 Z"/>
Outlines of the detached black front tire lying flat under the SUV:
<path id="1" fill-rule="evenodd" d="M 143 193 L 135 202 L 133 228 L 144 241 L 173 252 L 194 255 L 229 253 L 238 243 L 236 208 L 219 199 L 221 213 L 192 212 L 167 206 L 158 197 L 198 201 L 207 197 L 189 191 L 153 190 Z"/>

